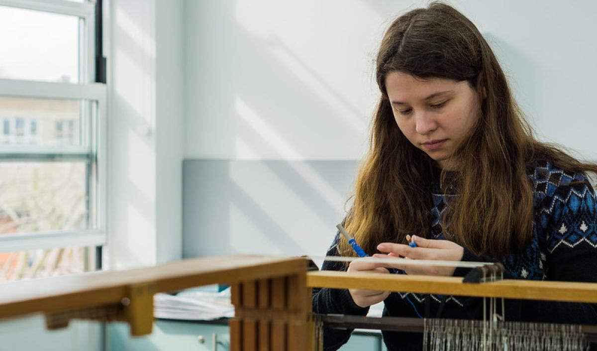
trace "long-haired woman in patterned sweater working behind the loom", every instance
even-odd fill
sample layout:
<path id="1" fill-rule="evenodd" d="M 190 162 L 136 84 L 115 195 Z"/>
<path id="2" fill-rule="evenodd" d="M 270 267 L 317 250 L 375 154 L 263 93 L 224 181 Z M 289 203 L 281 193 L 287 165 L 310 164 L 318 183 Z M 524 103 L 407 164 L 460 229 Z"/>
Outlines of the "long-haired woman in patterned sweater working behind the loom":
<path id="1" fill-rule="evenodd" d="M 377 56 L 381 97 L 371 149 L 359 170 L 344 224 L 369 255 L 414 260 L 501 261 L 506 278 L 597 281 L 597 207 L 579 162 L 537 141 L 503 71 L 475 25 L 432 3 L 398 17 Z M 405 245 L 414 234 L 416 248 Z M 355 255 L 338 235 L 328 255 Z M 463 275 L 460 269 L 393 266 L 407 274 Z M 388 273 L 367 258 L 324 270 Z M 441 298 L 428 297 L 430 316 Z M 479 319 L 478 298 L 445 297 L 441 318 Z M 313 292 L 318 313 L 421 316 L 423 296 L 383 291 Z M 592 304 L 514 301 L 513 321 L 597 324 Z M 350 336 L 325 330 L 334 350 Z M 389 350 L 421 348 L 421 335 L 384 332 Z"/>

